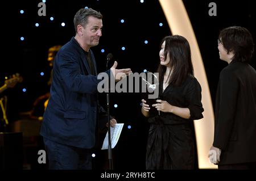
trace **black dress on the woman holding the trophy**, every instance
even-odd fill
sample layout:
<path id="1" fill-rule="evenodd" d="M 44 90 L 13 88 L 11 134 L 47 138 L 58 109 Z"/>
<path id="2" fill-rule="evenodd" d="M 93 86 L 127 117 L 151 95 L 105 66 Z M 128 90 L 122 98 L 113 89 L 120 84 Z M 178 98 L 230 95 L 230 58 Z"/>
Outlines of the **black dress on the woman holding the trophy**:
<path id="1" fill-rule="evenodd" d="M 194 169 L 193 120 L 203 118 L 201 86 L 189 75 L 180 86 L 170 84 L 164 91 L 162 87 L 163 82 L 160 82 L 160 99 L 173 106 L 189 108 L 191 117 L 183 119 L 166 112 L 152 115 L 154 111 L 150 111 L 146 169 Z"/>

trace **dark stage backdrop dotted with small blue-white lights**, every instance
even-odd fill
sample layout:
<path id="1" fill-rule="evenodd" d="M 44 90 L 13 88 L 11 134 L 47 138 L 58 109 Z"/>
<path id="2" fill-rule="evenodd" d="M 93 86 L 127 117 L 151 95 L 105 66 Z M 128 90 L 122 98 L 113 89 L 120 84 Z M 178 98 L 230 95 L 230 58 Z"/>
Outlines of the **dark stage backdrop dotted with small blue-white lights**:
<path id="1" fill-rule="evenodd" d="M 139 0 L 48 0 L 46 16 L 38 16 L 39 2 L 42 1 L 9 2 L 9 5 L 2 7 L 3 48 L 0 82 L 3 83 L 4 77 L 17 72 L 23 77 L 22 83 L 2 93 L 8 96 L 7 111 L 10 123 L 22 119 L 20 112 L 30 111 L 34 100 L 49 91 L 48 48 L 64 45 L 75 36 L 73 16 L 80 8 L 92 7 L 104 16 L 100 44 L 92 48 L 98 72 L 105 71 L 108 53 L 113 53 L 119 69 L 131 68 L 133 72 L 138 73 L 144 69 L 154 72 L 159 62 L 160 40 L 171 35 L 162 8 L 156 0 L 146 0 L 144 3 Z M 252 33 L 256 42 L 255 3 L 248 0 L 183 2 L 199 43 L 214 104 L 218 75 L 227 65 L 218 56 L 218 33 L 225 27 L 243 26 Z M 209 16 L 210 2 L 217 4 L 217 16 Z M 24 13 L 20 14 L 20 10 L 24 10 Z M 53 21 L 50 20 L 51 16 Z M 124 23 L 121 23 L 121 19 Z M 61 26 L 63 22 L 64 27 Z M 35 23 L 39 23 L 39 26 L 36 27 Z M 163 26 L 159 26 L 159 23 L 163 23 Z M 20 37 L 24 37 L 24 40 L 21 41 Z M 145 40 L 148 41 L 147 44 L 144 43 Z M 125 50 L 122 50 L 122 47 L 125 47 Z M 102 53 L 102 49 L 105 52 Z M 255 56 L 251 65 L 256 67 Z M 43 76 L 40 75 L 41 72 L 44 73 Z M 26 89 L 26 92 L 23 92 L 23 89 Z M 114 93 L 110 95 L 110 99 L 111 114 L 119 123 L 125 123 L 119 142 L 113 149 L 114 169 L 144 169 L 148 125 L 141 115 L 142 95 Z M 105 95 L 100 95 L 100 101 L 102 106 L 106 107 Z M 114 108 L 114 104 L 118 107 Z M 30 153 L 31 162 L 37 161 L 37 151 L 38 148 Z M 106 150 L 95 149 L 95 153 L 95 169 L 104 168 L 104 164 L 108 165 Z M 45 166 L 34 163 L 31 169 L 45 169 Z"/>

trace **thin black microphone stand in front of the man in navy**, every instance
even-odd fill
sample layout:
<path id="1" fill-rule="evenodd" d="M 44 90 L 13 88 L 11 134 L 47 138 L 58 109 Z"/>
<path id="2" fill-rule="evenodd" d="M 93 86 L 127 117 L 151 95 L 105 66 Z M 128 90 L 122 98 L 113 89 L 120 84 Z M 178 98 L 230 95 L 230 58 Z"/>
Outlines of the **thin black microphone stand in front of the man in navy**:
<path id="1" fill-rule="evenodd" d="M 106 63 L 106 70 L 108 70 L 109 58 L 107 59 Z M 111 78 L 111 77 L 110 77 Z M 109 138 L 109 146 L 108 146 L 108 158 L 109 158 L 109 170 L 113 170 L 113 161 L 112 161 L 112 144 L 111 144 L 111 135 L 110 135 L 110 111 L 109 111 L 109 95 L 110 95 L 110 88 L 109 91 L 106 93 L 106 100 L 107 100 L 107 110 L 108 110 L 108 138 Z"/>

